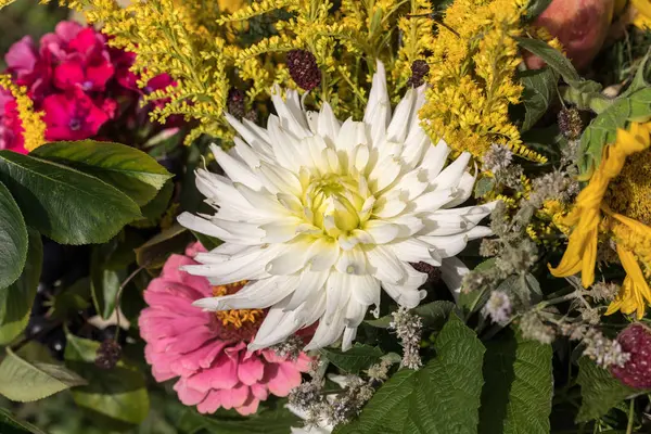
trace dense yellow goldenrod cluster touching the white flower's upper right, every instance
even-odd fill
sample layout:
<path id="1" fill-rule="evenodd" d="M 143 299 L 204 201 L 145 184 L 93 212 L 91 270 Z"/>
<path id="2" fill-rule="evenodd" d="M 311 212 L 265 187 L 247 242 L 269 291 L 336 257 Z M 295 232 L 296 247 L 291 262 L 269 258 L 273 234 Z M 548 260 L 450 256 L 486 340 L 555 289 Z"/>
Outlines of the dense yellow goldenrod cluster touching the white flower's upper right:
<path id="1" fill-rule="evenodd" d="M 513 81 L 521 62 L 513 37 L 522 34 L 525 5 L 523 0 L 456 0 L 446 10 L 427 60 L 432 88 L 421 111 L 431 137 L 475 156 L 501 143 L 527 159 L 546 161 L 522 144 L 509 119 L 509 105 L 522 93 Z"/>

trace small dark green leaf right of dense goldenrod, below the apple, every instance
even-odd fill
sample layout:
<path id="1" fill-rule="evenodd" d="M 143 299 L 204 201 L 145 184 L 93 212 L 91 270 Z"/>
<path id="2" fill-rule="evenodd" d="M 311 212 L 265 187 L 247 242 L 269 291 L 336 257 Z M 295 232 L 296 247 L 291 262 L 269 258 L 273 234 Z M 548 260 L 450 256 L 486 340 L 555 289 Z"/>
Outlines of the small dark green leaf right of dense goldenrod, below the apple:
<path id="1" fill-rule="evenodd" d="M 547 113 L 557 94 L 558 80 L 557 74 L 549 67 L 520 74 L 520 81 L 524 87 L 522 102 L 525 108 L 524 122 L 520 128 L 522 132 L 529 130 Z"/>

